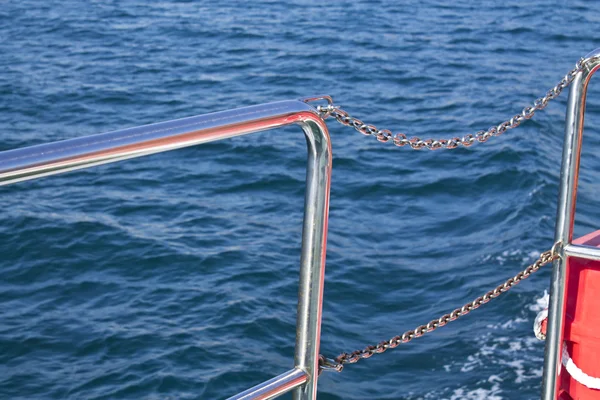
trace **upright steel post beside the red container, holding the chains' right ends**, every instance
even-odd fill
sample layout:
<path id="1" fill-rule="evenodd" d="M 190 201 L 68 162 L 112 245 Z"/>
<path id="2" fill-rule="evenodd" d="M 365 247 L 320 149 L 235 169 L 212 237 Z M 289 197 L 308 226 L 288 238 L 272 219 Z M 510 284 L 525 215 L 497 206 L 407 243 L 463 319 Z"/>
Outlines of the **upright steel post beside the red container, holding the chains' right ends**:
<path id="1" fill-rule="evenodd" d="M 581 140 L 588 83 L 594 72 L 600 67 L 600 49 L 586 56 L 583 70 L 571 83 L 565 124 L 562 167 L 556 217 L 554 240 L 561 242 L 560 259 L 554 261 L 550 285 L 550 305 L 548 308 L 548 330 L 542 378 L 542 399 L 556 400 L 558 394 L 558 373 L 561 368 L 562 327 L 564 323 L 565 281 L 567 260 L 564 246 L 573 240 L 575 221 L 575 202 L 581 156 Z"/>

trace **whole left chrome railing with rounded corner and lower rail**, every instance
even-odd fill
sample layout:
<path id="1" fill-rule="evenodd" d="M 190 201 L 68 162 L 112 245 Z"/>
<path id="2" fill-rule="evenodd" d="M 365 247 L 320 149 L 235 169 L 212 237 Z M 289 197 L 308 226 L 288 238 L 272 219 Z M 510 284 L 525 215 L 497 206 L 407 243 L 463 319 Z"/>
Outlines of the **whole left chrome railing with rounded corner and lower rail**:
<path id="1" fill-rule="evenodd" d="M 316 399 L 325 250 L 331 183 L 331 143 L 325 122 L 299 100 L 281 101 L 160 122 L 0 152 L 0 185 L 194 146 L 297 124 L 308 148 L 294 369 L 236 399 L 270 399 L 294 390 Z"/>

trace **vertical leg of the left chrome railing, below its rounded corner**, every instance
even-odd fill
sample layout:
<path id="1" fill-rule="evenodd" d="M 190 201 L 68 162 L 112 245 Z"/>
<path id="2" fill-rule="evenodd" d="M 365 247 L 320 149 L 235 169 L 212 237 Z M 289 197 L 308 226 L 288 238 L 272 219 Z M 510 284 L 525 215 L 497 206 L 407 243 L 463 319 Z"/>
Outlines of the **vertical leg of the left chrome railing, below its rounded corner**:
<path id="1" fill-rule="evenodd" d="M 294 363 L 296 368 L 308 374 L 308 382 L 293 393 L 295 400 L 315 400 L 331 184 L 331 143 L 323 120 L 305 120 L 301 126 L 307 140 L 308 167 Z"/>

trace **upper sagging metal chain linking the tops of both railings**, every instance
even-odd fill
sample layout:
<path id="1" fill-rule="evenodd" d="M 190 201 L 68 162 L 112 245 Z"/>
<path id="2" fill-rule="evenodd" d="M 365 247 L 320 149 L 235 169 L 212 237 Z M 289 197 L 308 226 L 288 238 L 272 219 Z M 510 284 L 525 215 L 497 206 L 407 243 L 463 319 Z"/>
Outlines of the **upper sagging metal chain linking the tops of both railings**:
<path id="1" fill-rule="evenodd" d="M 550 100 L 554 100 L 555 98 L 557 98 L 561 94 L 563 89 L 568 87 L 571 84 L 571 82 L 573 82 L 573 79 L 575 79 L 577 73 L 583 69 L 584 61 L 585 60 L 583 58 L 580 59 L 575 64 L 575 68 L 569 71 L 564 76 L 564 78 L 562 78 L 561 81 L 558 82 L 556 86 L 550 89 L 545 96 L 535 100 L 533 102 L 533 105 L 523 108 L 523 111 L 521 111 L 520 114 L 516 114 L 515 116 L 502 122 L 501 124 L 492 126 L 486 131 L 479 131 L 475 134 L 469 133 L 463 137 L 426 140 L 423 140 L 419 137 L 412 137 L 409 139 L 404 133 L 396 133 L 394 135 L 388 129 L 378 129 L 374 125 L 367 125 L 360 119 L 350 116 L 350 114 L 348 114 L 346 111 L 342 110 L 340 107 L 334 104 L 318 106 L 317 110 L 319 111 L 323 119 L 332 116 L 342 125 L 351 126 L 358 132 L 367 136 L 374 135 L 380 142 L 391 141 L 399 147 L 408 145 L 414 150 L 421 150 L 423 148 L 427 148 L 429 150 L 455 149 L 461 145 L 464 147 L 469 147 L 475 142 L 487 142 L 488 139 L 490 139 L 493 136 L 500 136 L 507 130 L 518 127 L 523 121 L 531 119 L 536 111 L 543 110 L 544 108 L 546 108 Z M 315 99 L 307 99 L 307 101 L 313 100 Z"/>

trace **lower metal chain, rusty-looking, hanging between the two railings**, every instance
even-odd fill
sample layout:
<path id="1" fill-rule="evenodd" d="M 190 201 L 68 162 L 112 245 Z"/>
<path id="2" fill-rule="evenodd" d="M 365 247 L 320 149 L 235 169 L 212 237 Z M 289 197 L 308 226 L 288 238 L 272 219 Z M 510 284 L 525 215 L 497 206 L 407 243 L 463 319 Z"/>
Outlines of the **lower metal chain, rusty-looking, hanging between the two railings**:
<path id="1" fill-rule="evenodd" d="M 464 306 L 455 309 L 451 313 L 444 314 L 441 317 L 430 321 L 426 325 L 420 325 L 415 329 L 411 329 L 409 331 L 404 332 L 402 335 L 394 336 L 390 340 L 384 340 L 376 346 L 367 346 L 362 350 L 356 350 L 352 353 L 342 353 L 333 360 L 321 355 L 319 357 L 320 369 L 335 370 L 340 372 L 343 369 L 344 364 L 354 364 L 363 358 L 369 358 L 374 354 L 381 354 L 388 349 L 393 349 L 395 347 L 398 347 L 400 344 L 408 343 L 415 338 L 421 337 L 426 333 L 433 332 L 436 329 L 447 325 L 449 322 L 455 321 L 459 317 L 469 314 L 471 311 L 481 307 L 490 300 L 495 299 L 502 293 L 506 293 L 522 280 L 529 278 L 529 276 L 532 273 L 538 271 L 544 265 L 559 258 L 559 246 L 560 242 L 557 242 L 551 250 L 540 254 L 540 257 L 533 264 L 529 265 L 527 268 L 525 268 L 523 271 L 519 272 L 512 278 L 509 278 L 503 284 L 497 286 L 493 290 L 490 290 L 483 296 L 477 297 L 470 303 L 467 303 Z"/>

